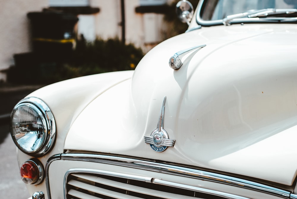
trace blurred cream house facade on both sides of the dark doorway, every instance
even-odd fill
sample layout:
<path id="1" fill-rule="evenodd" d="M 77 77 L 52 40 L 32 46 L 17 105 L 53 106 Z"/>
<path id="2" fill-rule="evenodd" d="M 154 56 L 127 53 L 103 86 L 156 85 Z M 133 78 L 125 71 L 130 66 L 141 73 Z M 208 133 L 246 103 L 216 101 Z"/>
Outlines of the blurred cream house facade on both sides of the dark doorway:
<path id="1" fill-rule="evenodd" d="M 96 37 L 118 37 L 147 52 L 164 40 L 166 23 L 163 16 L 172 1 L 0 0 L 0 81 L 6 81 L 5 70 L 15 65 L 15 54 L 32 51 L 32 24 L 27 17 L 30 12 L 75 15 L 79 19 L 75 26 L 78 39 L 82 35 L 88 41 Z"/>

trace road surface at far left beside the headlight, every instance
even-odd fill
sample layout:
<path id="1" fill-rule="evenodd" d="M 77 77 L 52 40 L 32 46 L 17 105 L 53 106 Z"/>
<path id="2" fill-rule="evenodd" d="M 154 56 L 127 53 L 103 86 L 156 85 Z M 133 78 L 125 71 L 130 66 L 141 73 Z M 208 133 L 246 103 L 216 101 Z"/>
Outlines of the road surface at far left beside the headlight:
<path id="1" fill-rule="evenodd" d="M 0 198 L 30 197 L 26 184 L 20 179 L 16 146 L 10 137 L 9 120 L 15 104 L 40 87 L 0 84 Z"/>

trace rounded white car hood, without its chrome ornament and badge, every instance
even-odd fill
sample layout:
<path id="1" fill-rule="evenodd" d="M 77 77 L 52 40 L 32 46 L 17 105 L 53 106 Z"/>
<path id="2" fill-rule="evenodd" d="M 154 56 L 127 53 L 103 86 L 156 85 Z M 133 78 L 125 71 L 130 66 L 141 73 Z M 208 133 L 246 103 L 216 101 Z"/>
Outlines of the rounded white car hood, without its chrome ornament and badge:
<path id="1" fill-rule="evenodd" d="M 276 28 L 277 27 L 277 28 Z M 296 177 L 297 27 L 203 27 L 149 51 L 132 79 L 102 93 L 72 124 L 64 149 L 113 153 L 250 176 L 285 185 Z M 176 52 L 206 44 L 169 67 Z M 164 129 L 174 147 L 144 136 Z M 280 172 L 281 171 L 281 172 Z"/>

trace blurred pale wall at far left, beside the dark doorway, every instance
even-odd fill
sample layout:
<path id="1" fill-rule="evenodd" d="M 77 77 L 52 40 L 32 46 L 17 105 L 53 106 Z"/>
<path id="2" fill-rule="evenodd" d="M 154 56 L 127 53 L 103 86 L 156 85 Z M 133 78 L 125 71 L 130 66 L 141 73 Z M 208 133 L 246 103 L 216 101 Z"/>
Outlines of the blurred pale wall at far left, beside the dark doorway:
<path id="1" fill-rule="evenodd" d="M 14 54 L 31 51 L 27 13 L 47 5 L 48 0 L 0 0 L 0 81 L 6 80 L 1 70 L 14 64 Z"/>

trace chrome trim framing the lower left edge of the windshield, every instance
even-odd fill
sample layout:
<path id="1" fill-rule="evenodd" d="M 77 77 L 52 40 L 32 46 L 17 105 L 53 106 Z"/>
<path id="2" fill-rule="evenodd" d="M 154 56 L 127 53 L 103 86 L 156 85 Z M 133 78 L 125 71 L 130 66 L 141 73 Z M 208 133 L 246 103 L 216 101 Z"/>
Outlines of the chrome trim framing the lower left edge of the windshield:
<path id="1" fill-rule="evenodd" d="M 200 16 L 201 11 L 206 7 L 207 0 L 200 0 L 196 8 L 196 23 L 201 26 L 224 25 L 223 19 L 203 20 Z M 240 23 L 297 23 L 297 17 L 254 17 L 254 18 L 235 18 L 229 21 L 228 25 Z"/>

